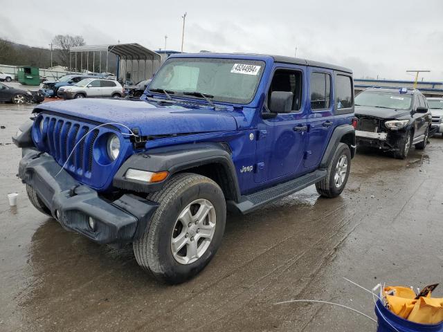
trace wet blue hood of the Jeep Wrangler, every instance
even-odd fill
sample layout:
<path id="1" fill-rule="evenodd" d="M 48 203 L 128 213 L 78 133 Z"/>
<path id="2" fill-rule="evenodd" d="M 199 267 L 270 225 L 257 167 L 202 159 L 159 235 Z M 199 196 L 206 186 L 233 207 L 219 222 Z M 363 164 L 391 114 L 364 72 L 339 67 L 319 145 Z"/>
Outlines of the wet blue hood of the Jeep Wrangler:
<path id="1" fill-rule="evenodd" d="M 33 112 L 40 111 L 100 123 L 117 122 L 140 129 L 142 136 L 237 130 L 237 122 L 228 110 L 192 109 L 174 104 L 156 106 L 145 101 L 84 98 L 47 102 Z"/>

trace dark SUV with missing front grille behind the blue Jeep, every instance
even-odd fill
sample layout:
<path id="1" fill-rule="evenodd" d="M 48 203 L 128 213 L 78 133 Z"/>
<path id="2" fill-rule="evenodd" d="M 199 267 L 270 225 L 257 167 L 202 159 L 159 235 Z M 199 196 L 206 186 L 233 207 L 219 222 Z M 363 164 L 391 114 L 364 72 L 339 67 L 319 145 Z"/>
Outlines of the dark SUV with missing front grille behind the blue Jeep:
<path id="1" fill-rule="evenodd" d="M 409 149 L 424 149 L 428 142 L 431 113 L 417 89 L 369 88 L 355 97 L 355 132 L 358 145 L 392 151 L 404 159 Z"/>

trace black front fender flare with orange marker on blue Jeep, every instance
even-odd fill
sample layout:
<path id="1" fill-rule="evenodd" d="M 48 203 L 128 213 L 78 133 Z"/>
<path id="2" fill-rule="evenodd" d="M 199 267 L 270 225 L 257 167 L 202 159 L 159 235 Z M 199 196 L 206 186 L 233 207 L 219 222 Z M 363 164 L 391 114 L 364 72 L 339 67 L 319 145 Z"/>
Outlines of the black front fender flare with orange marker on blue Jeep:
<path id="1" fill-rule="evenodd" d="M 172 147 L 159 147 L 150 151 L 143 151 L 130 156 L 120 166 L 112 184 L 123 190 L 135 192 L 156 192 L 163 188 L 168 179 L 177 172 L 186 171 L 194 167 L 208 164 L 220 164 L 229 177 L 228 184 L 236 199 L 239 199 L 240 190 L 235 172 L 235 166 L 228 145 L 224 143 L 203 142 L 197 144 L 183 144 Z M 159 183 L 146 183 L 125 178 L 127 169 L 141 169 L 148 172 L 168 171 L 168 177 Z"/>

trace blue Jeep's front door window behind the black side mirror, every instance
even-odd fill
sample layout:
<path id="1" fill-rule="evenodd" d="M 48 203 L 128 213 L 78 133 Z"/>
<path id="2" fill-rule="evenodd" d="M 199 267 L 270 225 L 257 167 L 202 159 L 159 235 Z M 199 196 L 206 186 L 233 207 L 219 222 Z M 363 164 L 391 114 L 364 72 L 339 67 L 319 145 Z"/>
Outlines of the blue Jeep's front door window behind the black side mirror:
<path id="1" fill-rule="evenodd" d="M 302 97 L 302 73 L 300 71 L 278 69 L 272 77 L 271 86 L 269 86 L 266 99 L 267 105 L 271 102 L 273 91 L 292 92 L 292 110 L 294 112 L 299 111 Z"/>

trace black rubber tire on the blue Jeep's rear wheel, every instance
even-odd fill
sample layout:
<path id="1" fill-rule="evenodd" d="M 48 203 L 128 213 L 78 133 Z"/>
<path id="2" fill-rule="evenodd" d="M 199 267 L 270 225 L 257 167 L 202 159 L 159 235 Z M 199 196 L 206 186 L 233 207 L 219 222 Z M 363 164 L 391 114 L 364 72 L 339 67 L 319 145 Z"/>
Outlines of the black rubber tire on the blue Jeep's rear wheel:
<path id="1" fill-rule="evenodd" d="M 336 183 L 336 169 L 338 167 L 339 161 L 341 161 L 341 158 L 345 158 L 346 160 L 346 173 L 345 178 L 343 181 L 341 181 L 341 184 Z M 347 144 L 345 143 L 338 143 L 338 147 L 335 151 L 334 157 L 332 157 L 331 163 L 329 163 L 327 167 L 327 175 L 325 178 L 323 178 L 322 181 L 316 183 L 316 189 L 318 194 L 320 194 L 323 197 L 328 198 L 334 198 L 343 192 L 343 189 L 345 189 L 347 178 L 349 177 L 351 170 L 351 151 Z M 337 184 L 339 184 L 337 186 Z"/>

